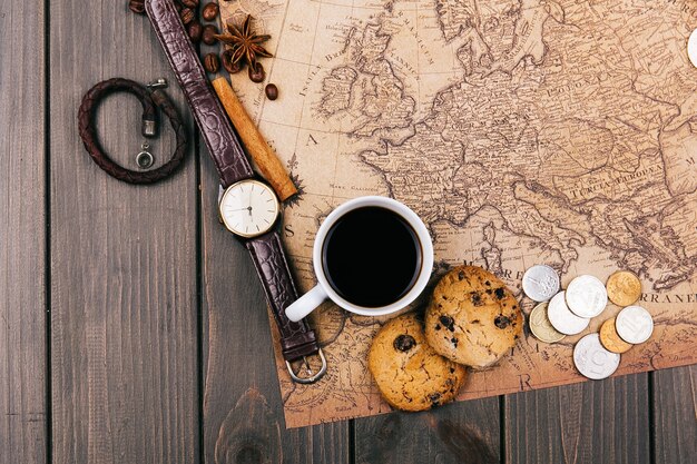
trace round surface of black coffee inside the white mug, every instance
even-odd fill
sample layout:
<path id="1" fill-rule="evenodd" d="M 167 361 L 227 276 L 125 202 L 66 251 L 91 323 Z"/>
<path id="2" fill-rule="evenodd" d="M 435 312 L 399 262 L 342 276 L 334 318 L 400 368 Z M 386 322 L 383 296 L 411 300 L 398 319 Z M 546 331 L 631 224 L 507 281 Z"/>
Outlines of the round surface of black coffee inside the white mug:
<path id="1" fill-rule="evenodd" d="M 382 207 L 356 208 L 328 230 L 322 266 L 334 292 L 356 306 L 379 308 L 397 302 L 421 273 L 414 229 Z"/>

